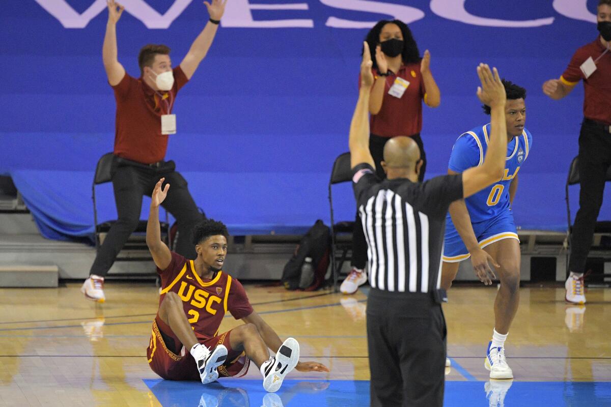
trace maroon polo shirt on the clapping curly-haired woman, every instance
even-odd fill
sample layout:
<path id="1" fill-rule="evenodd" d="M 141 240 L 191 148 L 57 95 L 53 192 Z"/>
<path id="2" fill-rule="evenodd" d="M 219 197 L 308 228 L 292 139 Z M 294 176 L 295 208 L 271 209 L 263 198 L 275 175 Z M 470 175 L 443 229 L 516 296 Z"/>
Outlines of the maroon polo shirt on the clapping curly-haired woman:
<path id="1" fill-rule="evenodd" d="M 378 77 L 378 70 L 373 70 L 373 76 Z M 388 94 L 397 76 L 409 82 L 401 98 Z M 396 137 L 397 135 L 414 135 L 422 131 L 422 99 L 426 90 L 420 73 L 420 63 L 401 65 L 397 76 L 386 77 L 382 107 L 378 114 L 371 115 L 369 124 L 371 134 Z"/>

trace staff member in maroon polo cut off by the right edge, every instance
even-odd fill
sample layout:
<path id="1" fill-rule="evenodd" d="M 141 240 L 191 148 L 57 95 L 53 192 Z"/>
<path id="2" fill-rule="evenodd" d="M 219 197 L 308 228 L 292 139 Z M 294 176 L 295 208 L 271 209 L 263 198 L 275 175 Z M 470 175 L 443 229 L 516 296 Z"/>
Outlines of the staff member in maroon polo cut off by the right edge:
<path id="1" fill-rule="evenodd" d="M 543 93 L 562 99 L 584 81 L 584 121 L 579 134 L 579 211 L 571 234 L 566 301 L 585 303 L 584 269 L 596 218 L 602 205 L 605 175 L 611 165 L 611 0 L 598 2 L 596 40 L 577 49 L 560 79 L 543 84 Z"/>

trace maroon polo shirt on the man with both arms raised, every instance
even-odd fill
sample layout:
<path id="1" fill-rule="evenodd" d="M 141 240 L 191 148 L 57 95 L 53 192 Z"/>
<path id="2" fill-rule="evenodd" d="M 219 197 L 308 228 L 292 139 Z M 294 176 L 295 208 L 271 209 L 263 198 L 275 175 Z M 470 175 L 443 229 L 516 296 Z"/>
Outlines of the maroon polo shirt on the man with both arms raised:
<path id="1" fill-rule="evenodd" d="M 189 81 L 180 66 L 172 72 L 174 86 L 168 92 L 155 92 L 127 73 L 112 87 L 117 101 L 115 155 L 142 164 L 164 159 L 168 136 L 161 134 L 161 115 L 172 112 L 178 90 Z"/>

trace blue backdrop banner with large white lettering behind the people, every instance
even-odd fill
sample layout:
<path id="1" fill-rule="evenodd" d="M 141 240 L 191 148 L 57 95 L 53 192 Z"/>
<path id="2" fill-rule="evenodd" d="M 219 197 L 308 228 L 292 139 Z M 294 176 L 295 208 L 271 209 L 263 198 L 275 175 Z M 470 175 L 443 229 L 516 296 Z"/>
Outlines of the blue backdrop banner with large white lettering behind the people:
<path id="1" fill-rule="evenodd" d="M 169 45 L 177 65 L 208 20 L 199 0 L 123 4 L 119 60 L 133 76 L 143 45 Z M 487 123 L 475 67 L 490 63 L 528 91 L 534 148 L 520 171 L 516 223 L 565 229 L 583 88 L 552 101 L 541 85 L 596 38 L 596 4 L 229 0 L 208 56 L 178 95 L 178 133 L 166 158 L 177 162 L 198 206 L 233 234 L 301 233 L 318 218 L 328 223 L 327 181 L 348 149 L 362 40 L 375 21 L 399 18 L 420 51 L 430 50 L 441 89 L 441 106 L 423 115 L 427 178 L 445 173 L 459 134 Z M 89 236 L 93 169 L 114 140 L 115 102 L 101 60 L 106 0 L 4 0 L 2 10 L 0 173 L 13 177 L 45 236 Z M 101 218 L 111 218 L 112 189 L 100 188 Z M 571 189 L 575 208 L 578 189 Z M 334 196 L 337 218 L 353 218 L 349 185 Z M 611 217 L 608 205 L 601 217 Z"/>

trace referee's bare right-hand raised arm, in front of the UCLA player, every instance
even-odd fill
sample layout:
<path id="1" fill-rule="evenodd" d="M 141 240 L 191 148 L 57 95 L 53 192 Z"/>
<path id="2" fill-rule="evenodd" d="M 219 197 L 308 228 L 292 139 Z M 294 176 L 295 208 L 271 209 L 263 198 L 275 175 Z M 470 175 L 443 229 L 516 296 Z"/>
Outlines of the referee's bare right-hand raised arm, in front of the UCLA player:
<path id="1" fill-rule="evenodd" d="M 480 77 L 481 87 L 477 88 L 477 97 L 481 103 L 490 106 L 491 137 L 484 162 L 479 167 L 469 168 L 463 172 L 463 194 L 474 195 L 490 184 L 503 178 L 505 170 L 505 155 L 507 154 L 507 124 L 505 123 L 505 87 L 499 72 L 493 68 L 494 73 L 487 64 L 480 63 L 477 75 Z"/>

